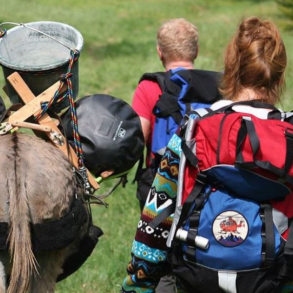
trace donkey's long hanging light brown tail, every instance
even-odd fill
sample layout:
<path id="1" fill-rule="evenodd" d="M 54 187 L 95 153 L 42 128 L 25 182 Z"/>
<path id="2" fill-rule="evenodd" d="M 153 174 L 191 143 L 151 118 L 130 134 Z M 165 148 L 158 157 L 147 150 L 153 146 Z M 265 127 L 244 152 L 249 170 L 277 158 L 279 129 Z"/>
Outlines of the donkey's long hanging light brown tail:
<path id="1" fill-rule="evenodd" d="M 17 134 L 14 142 L 14 171 L 7 178 L 9 200 L 9 251 L 13 262 L 8 293 L 24 293 L 29 289 L 37 261 L 32 251 L 29 206 L 25 178 L 21 172 L 20 143 Z M 13 165 L 13 164 L 12 164 Z"/>

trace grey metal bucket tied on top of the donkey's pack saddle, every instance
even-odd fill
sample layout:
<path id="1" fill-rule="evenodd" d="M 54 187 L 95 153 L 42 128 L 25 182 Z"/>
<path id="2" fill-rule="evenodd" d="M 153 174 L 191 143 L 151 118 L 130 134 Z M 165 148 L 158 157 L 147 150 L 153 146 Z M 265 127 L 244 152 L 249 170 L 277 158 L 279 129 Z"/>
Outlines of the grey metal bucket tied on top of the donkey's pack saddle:
<path id="1" fill-rule="evenodd" d="M 80 52 L 84 44 L 78 30 L 61 22 L 37 21 L 17 25 L 7 30 L 0 38 L 0 65 L 12 103 L 18 103 L 20 100 L 6 79 L 11 73 L 17 71 L 34 95 L 38 96 L 66 72 L 70 49 Z M 76 98 L 78 61 L 73 64 L 71 72 L 73 96 Z M 63 101 L 55 105 L 53 110 L 60 112 L 67 105 L 68 101 Z"/>

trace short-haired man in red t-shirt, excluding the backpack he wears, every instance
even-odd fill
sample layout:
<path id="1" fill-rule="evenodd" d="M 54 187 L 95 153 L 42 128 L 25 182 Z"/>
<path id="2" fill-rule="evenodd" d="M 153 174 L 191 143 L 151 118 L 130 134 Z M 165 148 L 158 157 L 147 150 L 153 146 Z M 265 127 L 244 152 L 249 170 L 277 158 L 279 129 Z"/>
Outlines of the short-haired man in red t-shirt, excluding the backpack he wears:
<path id="1" fill-rule="evenodd" d="M 197 27 L 183 18 L 164 22 L 157 32 L 157 52 L 166 71 L 178 67 L 193 69 L 198 53 Z M 142 80 L 145 76 L 141 78 L 132 100 L 132 107 L 140 116 L 146 143 L 146 168 L 139 169 L 136 176 L 141 210 L 161 161 L 161 156 L 151 151 L 151 145 L 156 119 L 152 111 L 162 95 L 162 89 L 153 77 Z"/>

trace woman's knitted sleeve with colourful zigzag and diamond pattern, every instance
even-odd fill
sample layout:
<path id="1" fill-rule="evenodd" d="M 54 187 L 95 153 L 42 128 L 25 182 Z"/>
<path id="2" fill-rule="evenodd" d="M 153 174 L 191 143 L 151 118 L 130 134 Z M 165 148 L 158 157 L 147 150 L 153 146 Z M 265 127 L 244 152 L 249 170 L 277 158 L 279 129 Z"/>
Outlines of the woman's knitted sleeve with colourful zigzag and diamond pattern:
<path id="1" fill-rule="evenodd" d="M 166 241 L 173 215 L 152 229 L 148 223 L 174 201 L 177 195 L 181 139 L 177 134 L 171 138 L 160 167 L 148 193 L 145 208 L 138 223 L 132 245 L 132 260 L 128 264 L 122 293 L 154 293 L 161 278 L 170 272 L 166 263 Z"/>

